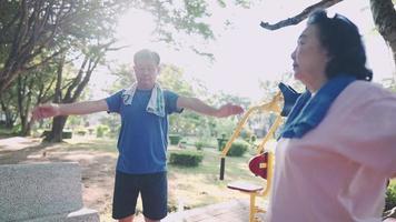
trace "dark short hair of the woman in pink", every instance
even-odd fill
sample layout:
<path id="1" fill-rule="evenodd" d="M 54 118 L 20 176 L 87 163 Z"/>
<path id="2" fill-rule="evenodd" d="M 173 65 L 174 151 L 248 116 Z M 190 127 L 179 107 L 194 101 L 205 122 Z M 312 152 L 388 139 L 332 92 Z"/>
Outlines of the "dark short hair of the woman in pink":
<path id="1" fill-rule="evenodd" d="M 358 80 L 370 81 L 372 70 L 366 68 L 366 51 L 357 27 L 346 17 L 327 17 L 325 10 L 309 14 L 308 24 L 319 29 L 319 41 L 329 53 L 326 67 L 328 79 L 341 74 L 354 75 Z"/>

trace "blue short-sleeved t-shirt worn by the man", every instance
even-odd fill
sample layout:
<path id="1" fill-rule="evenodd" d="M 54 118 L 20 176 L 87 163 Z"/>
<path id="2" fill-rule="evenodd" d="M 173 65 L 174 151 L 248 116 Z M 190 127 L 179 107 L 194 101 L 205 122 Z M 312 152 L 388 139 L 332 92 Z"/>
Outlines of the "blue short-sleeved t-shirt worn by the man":
<path id="1" fill-rule="evenodd" d="M 129 105 L 123 103 L 122 92 L 106 99 L 109 112 L 121 115 L 117 170 L 131 174 L 166 171 L 168 114 L 181 112 L 177 109 L 178 94 L 164 91 L 166 115 L 161 118 L 146 111 L 151 90 L 137 89 Z"/>

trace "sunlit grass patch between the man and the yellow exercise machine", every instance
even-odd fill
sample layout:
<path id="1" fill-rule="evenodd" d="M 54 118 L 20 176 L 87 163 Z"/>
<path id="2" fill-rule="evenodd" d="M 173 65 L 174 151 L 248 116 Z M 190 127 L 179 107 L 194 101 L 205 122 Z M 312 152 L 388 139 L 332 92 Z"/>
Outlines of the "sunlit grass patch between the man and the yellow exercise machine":
<path id="1" fill-rule="evenodd" d="M 263 179 L 255 176 L 248 170 L 248 160 L 251 155 L 226 158 L 225 180 L 221 181 L 219 180 L 220 152 L 208 148 L 201 152 L 204 160 L 197 168 L 168 165 L 169 200 L 171 203 L 181 198 L 185 200 L 185 208 L 190 209 L 235 198 L 248 199 L 246 194 L 227 189 L 227 183 L 239 180 L 256 184 L 264 183 Z"/>

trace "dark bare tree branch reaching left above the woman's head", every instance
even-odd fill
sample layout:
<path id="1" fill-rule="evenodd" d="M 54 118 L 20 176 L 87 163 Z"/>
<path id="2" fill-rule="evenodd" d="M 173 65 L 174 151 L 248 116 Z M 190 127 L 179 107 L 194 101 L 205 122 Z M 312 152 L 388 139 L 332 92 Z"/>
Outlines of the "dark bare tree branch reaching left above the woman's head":
<path id="1" fill-rule="evenodd" d="M 343 1 L 343 0 L 321 0 L 318 3 L 307 7 L 299 14 L 297 14 L 293 18 L 288 18 L 288 19 L 278 21 L 275 24 L 270 24 L 268 22 L 261 21 L 260 27 L 263 27 L 264 29 L 268 29 L 268 30 L 277 30 L 277 29 L 280 29 L 284 27 L 295 26 L 295 24 L 298 24 L 299 22 L 301 22 L 304 19 L 308 18 L 309 13 L 313 12 L 314 10 L 327 9 L 340 1 Z"/>

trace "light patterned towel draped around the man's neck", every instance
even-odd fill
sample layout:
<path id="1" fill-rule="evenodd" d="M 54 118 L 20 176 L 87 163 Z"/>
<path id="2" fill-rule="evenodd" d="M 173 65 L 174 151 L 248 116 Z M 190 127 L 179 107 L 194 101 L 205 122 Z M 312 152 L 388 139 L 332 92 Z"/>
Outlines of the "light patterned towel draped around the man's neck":
<path id="1" fill-rule="evenodd" d="M 137 84 L 135 83 L 132 87 L 126 89 L 122 92 L 122 101 L 123 104 L 129 105 L 132 103 L 132 99 L 135 95 L 135 91 L 137 89 Z M 165 99 L 164 91 L 159 83 L 156 83 L 151 91 L 150 100 L 147 104 L 146 111 L 158 117 L 165 117 Z"/>

